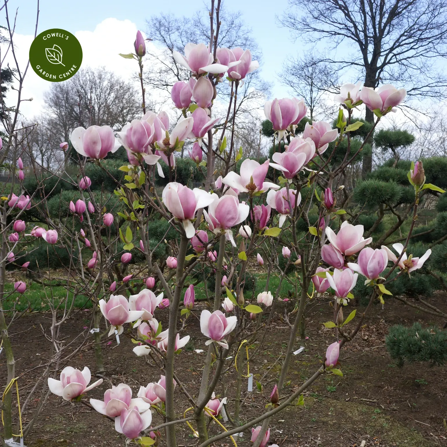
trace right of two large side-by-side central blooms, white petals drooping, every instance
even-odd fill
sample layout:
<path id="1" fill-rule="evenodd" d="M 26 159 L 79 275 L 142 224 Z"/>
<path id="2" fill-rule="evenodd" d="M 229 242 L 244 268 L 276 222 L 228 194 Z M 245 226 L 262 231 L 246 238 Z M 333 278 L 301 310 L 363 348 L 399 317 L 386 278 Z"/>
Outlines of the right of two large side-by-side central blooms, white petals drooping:
<path id="1" fill-rule="evenodd" d="M 212 232 L 215 234 L 225 232 L 227 240 L 230 240 L 233 247 L 236 247 L 231 227 L 247 218 L 250 207 L 245 203 L 239 203 L 239 199 L 231 194 L 231 190 L 228 193 L 221 198 L 217 194 L 211 194 L 213 201 L 208 206 L 208 212 L 203 210 L 203 215 Z"/>

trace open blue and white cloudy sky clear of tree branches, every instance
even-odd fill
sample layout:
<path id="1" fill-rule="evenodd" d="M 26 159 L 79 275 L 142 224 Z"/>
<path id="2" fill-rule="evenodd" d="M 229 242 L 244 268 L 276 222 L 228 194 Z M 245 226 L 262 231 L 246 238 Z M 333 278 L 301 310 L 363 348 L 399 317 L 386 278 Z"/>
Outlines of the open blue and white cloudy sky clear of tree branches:
<path id="1" fill-rule="evenodd" d="M 289 32 L 275 22 L 275 14 L 281 14 L 287 8 L 287 0 L 225 0 L 225 5 L 228 10 L 241 11 L 252 28 L 253 37 L 263 52 L 261 75 L 273 81 L 272 95 L 286 96 L 287 90 L 278 82 L 276 73 L 287 56 L 299 51 L 299 46 L 289 39 Z M 19 63 L 24 67 L 34 36 L 37 1 L 10 0 L 8 6 L 11 16 L 18 7 L 15 44 Z M 105 66 L 130 78 L 135 72 L 135 63 L 122 59 L 118 53 L 133 51 L 136 30 L 146 29 L 146 19 L 159 13 L 191 16 L 204 6 L 202 0 L 41 0 L 38 34 L 51 28 L 70 31 L 81 43 L 83 67 Z M 4 11 L 0 14 L 0 23 L 5 25 Z M 10 58 L 7 60 L 12 62 Z M 33 97 L 33 101 L 22 103 L 25 116 L 32 117 L 41 112 L 43 93 L 49 85 L 29 69 L 23 97 Z"/>

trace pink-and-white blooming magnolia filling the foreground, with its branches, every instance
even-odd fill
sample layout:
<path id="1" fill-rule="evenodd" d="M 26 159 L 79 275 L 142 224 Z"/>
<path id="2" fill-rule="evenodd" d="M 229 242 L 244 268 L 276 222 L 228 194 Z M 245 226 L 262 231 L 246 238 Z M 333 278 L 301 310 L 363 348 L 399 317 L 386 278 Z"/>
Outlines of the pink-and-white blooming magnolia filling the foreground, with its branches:
<path id="1" fill-rule="evenodd" d="M 104 400 L 86 400 L 84 394 L 90 389 L 104 387 L 102 378 L 90 384 L 89 368 L 82 369 L 81 365 L 72 364 L 59 370 L 59 365 L 67 364 L 67 359 L 61 363 L 59 327 L 71 315 L 74 299 L 71 304 L 68 301 L 55 304 L 49 299 L 54 315 L 49 342 L 55 346 L 55 355 L 43 375 L 42 393 L 47 393 L 47 385 L 50 392 L 64 400 L 84 403 L 105 415 L 114 423 L 115 430 L 123 434 L 123 445 L 151 445 L 161 438 L 165 445 L 176 446 L 176 425 L 186 423 L 198 437 L 199 447 L 227 437 L 236 446 L 233 436 L 250 429 L 253 446 L 266 446 L 270 418 L 296 399 L 302 402 L 304 390 L 321 375 L 342 375 L 338 367 L 339 352 L 356 336 L 372 304 L 376 300 L 384 303 L 383 295 L 391 293 L 388 283 L 420 269 L 431 253 L 430 249 L 421 257 L 407 253 L 421 198 L 430 190 L 432 194 L 443 193 L 437 186 L 426 183 L 420 161 L 412 164 L 408 173 L 414 198 L 412 213 L 403 219 L 409 221 L 403 244 L 394 243 L 392 249 L 387 245 L 374 246 L 362 225 L 350 223 L 354 216 L 336 206 L 342 186 L 335 188 L 335 185 L 365 145 L 356 146 L 355 151 L 351 148 L 351 134 L 362 126 L 361 121 L 353 118 L 353 110 L 364 104 L 376 116 L 367 141 L 380 119 L 405 100 L 405 90 L 390 84 L 377 90 L 345 84 L 335 98 L 340 104 L 336 128 L 322 121 L 306 123 L 302 136 L 295 135 L 295 129 L 306 116 L 304 101 L 296 98 L 267 101 L 264 112 L 274 129 L 272 159 L 262 163 L 242 161 L 242 151 L 236 150 L 234 143 L 237 92 L 245 77 L 258 68 L 258 63 L 252 60 L 249 49 L 217 46 L 219 8 L 220 0 L 217 4 L 213 0 L 210 42 L 188 43 L 184 54 L 174 51 L 177 63 L 191 73 L 188 82 L 177 82 L 171 91 L 173 104 L 182 114 L 175 127 L 170 126 L 166 112 L 155 114 L 144 109 L 140 119 L 126 124 L 117 135 L 108 126 L 78 127 L 72 132 L 71 144 L 77 152 L 79 172 L 77 177 L 64 173 L 64 181 L 76 187 L 77 192 L 73 191 L 73 200 L 60 203 L 58 218 L 49 211 L 41 184 L 34 196 L 21 194 L 25 178 L 23 164 L 17 156 L 21 146 L 17 145 L 17 127 L 15 124 L 9 127 L 7 150 L 14 154 L 13 184 L 18 184 L 21 193 L 16 195 L 11 189 L 1 203 L 2 296 L 6 296 L 5 268 L 17 266 L 20 257 L 14 253 L 20 251 L 18 247 L 26 254 L 26 247 L 33 240 L 42 239 L 49 257 L 58 256 L 55 251 L 58 247 L 73 253 L 68 279 L 64 281 L 73 295 L 87 296 L 93 302 L 91 332 L 98 373 L 106 374 L 101 339 L 111 337 L 114 343 L 128 344 L 129 356 L 151 358 L 164 374 L 154 377 L 151 383 L 141 383 L 137 396 L 132 396 L 131 388 L 121 383 L 105 389 Z M 146 50 L 140 32 L 134 48 L 135 53 L 122 56 L 139 64 L 142 78 Z M 213 109 L 216 85 L 220 82 L 228 82 L 231 91 L 226 117 L 215 116 Z M 144 107 L 143 82 L 141 87 Z M 232 122 L 229 122 L 231 110 Z M 192 143 L 191 159 L 206 174 L 200 188 L 190 189 L 175 181 L 175 154 L 181 151 L 186 140 Z M 69 143 L 63 142 L 60 146 L 67 150 Z M 120 147 L 126 149 L 129 162 L 111 172 L 104 159 Z M 328 150 L 329 147 L 333 149 Z M 340 147 L 346 150 L 335 162 L 334 156 Z M 32 163 L 36 170 L 37 162 L 32 160 Z M 160 191 L 155 179 L 156 173 L 164 177 L 162 164 L 169 167 L 169 182 Z M 92 180 L 87 172 L 92 165 L 116 183 L 114 194 L 97 194 L 91 190 Z M 117 177 L 117 172 L 123 172 L 124 178 Z M 62 178 L 60 172 L 54 175 Z M 312 221 L 311 208 L 318 210 L 317 218 Z M 31 209 L 42 227 L 31 229 L 32 225 L 21 219 Z M 166 234 L 156 245 L 150 234 L 154 220 L 167 223 Z M 305 222 L 305 231 L 299 229 L 299 220 Z M 174 232 L 169 243 L 168 232 Z M 169 256 L 160 258 L 156 251 L 163 244 L 168 245 Z M 128 270 L 131 252 L 138 253 L 141 260 L 132 274 Z M 86 253 L 89 253 L 88 259 L 85 259 Z M 267 280 L 265 291 L 256 299 L 246 300 L 244 288 L 249 263 L 265 269 Z M 295 275 L 287 275 L 292 267 Z M 37 270 L 44 278 L 45 272 Z M 213 290 L 207 287 L 209 274 L 214 278 Z M 270 282 L 274 276 L 279 277 L 276 290 L 272 290 Z M 190 340 L 188 317 L 198 306 L 194 278 L 204 279 L 206 308 L 202 308 L 199 319 L 201 333 L 207 341 L 202 346 L 206 355 L 200 388 L 193 397 L 194 393 L 189 392 L 188 385 L 176 374 L 176 359 Z M 259 353 L 271 329 L 283 281 L 292 284 L 296 298 L 295 308 L 287 310 L 286 306 L 285 319 L 290 329 L 284 333 L 284 339 L 289 339 L 287 352 L 278 382 L 271 391 L 270 404 L 240 425 L 243 367 Z M 351 291 L 358 281 L 365 282 L 369 288 L 369 302 L 362 315 L 356 316 L 354 310 L 345 319 L 342 309 L 353 298 Z M 14 287 L 26 294 L 25 282 L 19 281 Z M 302 384 L 294 383 L 295 391 L 288 391 L 286 395 L 284 388 L 291 356 L 297 337 L 299 346 L 305 346 L 304 315 L 315 294 L 325 294 L 333 307 L 333 320 L 324 325 L 333 328 L 336 341 L 328 346 L 315 373 Z M 287 300 L 284 299 L 286 304 Z M 58 312 L 61 309 L 62 318 Z M 166 328 L 158 321 L 160 309 L 169 312 Z M 266 313 L 268 316 L 262 318 Z M 8 359 L 8 383 L 11 383 L 17 374 L 3 311 L 0 329 Z M 87 337 L 88 334 L 82 334 L 78 345 L 82 346 Z M 255 340 L 257 348 L 250 354 L 247 350 L 245 360 L 242 353 Z M 229 359 L 235 357 L 236 394 L 234 404 L 230 405 L 226 391 L 218 394 L 217 387 L 223 384 L 224 374 L 232 366 Z M 250 386 L 253 386 L 253 376 L 249 378 Z M 6 439 L 13 437 L 10 388 L 3 405 Z M 181 398 L 184 401 L 179 405 L 177 401 Z M 189 408 L 179 415 L 176 408 L 184 404 Z M 212 436 L 208 431 L 211 420 L 219 426 L 219 433 Z"/>

